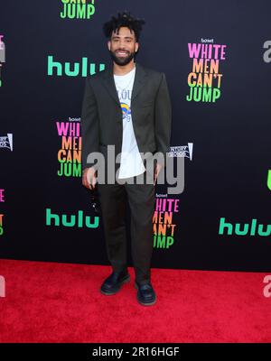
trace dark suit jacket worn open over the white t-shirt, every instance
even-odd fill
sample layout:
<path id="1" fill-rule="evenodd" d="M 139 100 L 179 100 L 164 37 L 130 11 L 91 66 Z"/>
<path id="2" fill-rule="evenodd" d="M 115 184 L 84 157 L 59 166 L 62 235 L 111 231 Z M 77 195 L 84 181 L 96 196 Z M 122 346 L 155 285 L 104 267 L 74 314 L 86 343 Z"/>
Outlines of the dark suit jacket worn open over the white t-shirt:
<path id="1" fill-rule="evenodd" d="M 139 152 L 169 152 L 172 106 L 164 73 L 135 63 L 135 81 L 131 97 L 131 114 Z M 86 79 L 81 112 L 82 169 L 89 153 L 106 156 L 107 145 L 122 146 L 122 108 L 114 81 L 113 63 Z"/>

